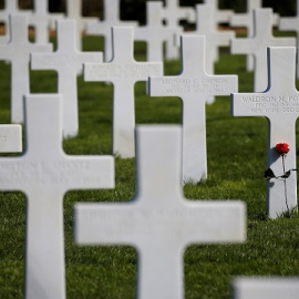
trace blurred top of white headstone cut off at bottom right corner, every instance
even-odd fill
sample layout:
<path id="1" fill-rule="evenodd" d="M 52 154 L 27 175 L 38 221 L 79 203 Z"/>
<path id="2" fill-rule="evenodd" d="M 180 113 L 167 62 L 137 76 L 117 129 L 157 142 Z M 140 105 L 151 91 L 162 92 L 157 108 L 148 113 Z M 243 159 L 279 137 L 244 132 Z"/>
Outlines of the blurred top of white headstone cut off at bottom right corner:
<path id="1" fill-rule="evenodd" d="M 298 299 L 299 278 L 236 278 L 233 283 L 234 299 Z"/>

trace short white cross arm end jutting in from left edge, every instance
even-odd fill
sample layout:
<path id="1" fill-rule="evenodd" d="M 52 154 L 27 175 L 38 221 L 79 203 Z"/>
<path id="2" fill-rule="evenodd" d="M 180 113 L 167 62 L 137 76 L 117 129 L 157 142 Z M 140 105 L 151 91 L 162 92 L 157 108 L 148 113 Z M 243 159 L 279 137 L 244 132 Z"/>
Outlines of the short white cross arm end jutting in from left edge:
<path id="1" fill-rule="evenodd" d="M 0 125 L 0 153 L 22 152 L 22 126 Z"/>

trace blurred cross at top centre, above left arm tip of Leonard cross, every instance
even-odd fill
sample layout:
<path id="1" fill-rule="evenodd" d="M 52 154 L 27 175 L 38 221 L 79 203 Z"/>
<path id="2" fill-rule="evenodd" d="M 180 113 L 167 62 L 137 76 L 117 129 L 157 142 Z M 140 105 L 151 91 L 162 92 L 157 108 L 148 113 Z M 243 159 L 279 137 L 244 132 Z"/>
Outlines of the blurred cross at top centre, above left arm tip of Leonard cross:
<path id="1" fill-rule="evenodd" d="M 136 41 L 146 41 L 147 43 L 147 61 L 164 61 L 163 44 L 166 42 L 166 47 L 168 47 L 168 44 L 174 43 L 174 37 L 178 32 L 176 28 L 163 24 L 162 12 L 163 2 L 147 1 L 147 24 L 144 27 L 136 27 L 134 30 L 134 39 Z"/>

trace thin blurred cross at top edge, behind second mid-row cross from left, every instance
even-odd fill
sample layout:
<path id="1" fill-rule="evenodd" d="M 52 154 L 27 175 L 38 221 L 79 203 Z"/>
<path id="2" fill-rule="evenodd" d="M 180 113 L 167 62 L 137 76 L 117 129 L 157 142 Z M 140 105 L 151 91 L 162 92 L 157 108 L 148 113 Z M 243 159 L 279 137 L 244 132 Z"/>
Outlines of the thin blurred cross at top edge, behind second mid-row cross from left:
<path id="1" fill-rule="evenodd" d="M 85 30 L 87 22 L 96 22 L 97 18 L 82 16 L 82 1 L 83 0 L 68 0 L 66 1 L 66 16 L 68 19 L 76 21 L 76 48 L 82 50 L 82 32 Z"/>

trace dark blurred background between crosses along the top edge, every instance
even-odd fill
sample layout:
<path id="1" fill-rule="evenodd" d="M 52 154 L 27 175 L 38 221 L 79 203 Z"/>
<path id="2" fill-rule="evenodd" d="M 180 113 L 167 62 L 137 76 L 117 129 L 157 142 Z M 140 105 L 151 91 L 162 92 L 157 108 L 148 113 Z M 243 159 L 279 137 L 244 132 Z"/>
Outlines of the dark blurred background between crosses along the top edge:
<path id="1" fill-rule="evenodd" d="M 6 1 L 0 0 L 0 9 L 4 8 Z M 35 0 L 38 1 L 38 0 Z M 145 3 L 147 0 L 120 0 L 121 1 L 121 19 L 137 20 L 141 24 L 145 23 Z M 151 0 L 153 1 L 153 0 Z M 233 9 L 236 12 L 245 12 L 247 1 L 250 0 L 219 0 L 220 9 Z M 19 0 L 20 9 L 33 9 L 34 0 Z M 66 0 L 49 0 L 49 10 L 51 12 L 64 12 Z M 203 3 L 204 0 L 181 0 L 181 6 L 193 7 Z M 280 16 L 295 16 L 297 0 L 264 0 L 264 7 L 274 8 L 275 12 Z M 103 0 L 82 0 L 83 16 L 94 16 L 103 19 Z"/>

